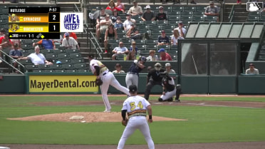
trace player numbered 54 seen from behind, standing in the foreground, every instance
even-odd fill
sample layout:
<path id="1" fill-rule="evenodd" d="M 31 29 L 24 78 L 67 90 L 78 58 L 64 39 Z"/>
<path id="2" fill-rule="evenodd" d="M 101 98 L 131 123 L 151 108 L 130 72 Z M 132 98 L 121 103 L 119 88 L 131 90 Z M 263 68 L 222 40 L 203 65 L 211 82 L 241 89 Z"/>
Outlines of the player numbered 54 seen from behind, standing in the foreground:
<path id="1" fill-rule="evenodd" d="M 132 135 L 136 129 L 139 129 L 142 135 L 145 136 L 145 140 L 149 149 L 155 149 L 155 144 L 151 138 L 150 128 L 146 120 L 146 111 L 148 112 L 148 122 L 152 123 L 152 108 L 148 101 L 141 96 L 137 96 L 137 86 L 129 86 L 130 97 L 123 103 L 121 111 L 123 125 L 126 125 L 123 135 L 120 138 L 118 149 L 123 149 L 126 140 Z M 126 113 L 128 113 L 129 120 L 126 119 Z"/>

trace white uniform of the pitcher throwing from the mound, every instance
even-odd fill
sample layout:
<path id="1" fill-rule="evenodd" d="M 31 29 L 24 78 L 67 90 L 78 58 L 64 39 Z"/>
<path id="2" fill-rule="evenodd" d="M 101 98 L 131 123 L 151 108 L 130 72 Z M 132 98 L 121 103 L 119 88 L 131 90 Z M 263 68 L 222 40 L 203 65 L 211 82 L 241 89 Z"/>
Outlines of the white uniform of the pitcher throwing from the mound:
<path id="1" fill-rule="evenodd" d="M 103 102 L 105 104 L 105 111 L 104 112 L 110 112 L 111 106 L 110 102 L 108 101 L 108 87 L 111 85 L 114 88 L 118 89 L 119 91 L 122 91 L 123 93 L 130 96 L 128 88 L 125 88 L 124 86 L 121 86 L 120 83 L 117 81 L 115 76 L 112 72 L 108 70 L 106 66 L 103 65 L 100 61 L 96 59 L 92 59 L 90 61 L 90 70 L 93 74 L 95 74 L 95 68 L 94 66 L 99 66 L 100 68 L 100 78 L 103 81 L 103 84 L 100 86 Z"/>

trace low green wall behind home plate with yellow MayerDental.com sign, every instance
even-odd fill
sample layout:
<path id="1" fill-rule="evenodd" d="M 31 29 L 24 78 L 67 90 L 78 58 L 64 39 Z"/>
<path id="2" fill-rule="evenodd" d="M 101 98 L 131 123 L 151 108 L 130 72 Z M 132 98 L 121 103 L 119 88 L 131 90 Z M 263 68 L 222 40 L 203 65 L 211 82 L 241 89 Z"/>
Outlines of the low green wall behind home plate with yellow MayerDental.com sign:
<path id="1" fill-rule="evenodd" d="M 126 74 L 115 77 L 126 86 Z M 145 93 L 147 73 L 139 76 L 139 92 Z M 27 73 L 26 75 L 0 75 L 1 94 L 93 94 L 100 93 L 93 83 L 92 73 Z M 265 75 L 257 76 L 181 76 L 182 93 L 210 94 L 265 94 Z M 175 80 L 177 83 L 177 79 Z M 161 86 L 152 88 L 154 94 L 162 92 Z M 109 93 L 120 91 L 112 86 Z"/>

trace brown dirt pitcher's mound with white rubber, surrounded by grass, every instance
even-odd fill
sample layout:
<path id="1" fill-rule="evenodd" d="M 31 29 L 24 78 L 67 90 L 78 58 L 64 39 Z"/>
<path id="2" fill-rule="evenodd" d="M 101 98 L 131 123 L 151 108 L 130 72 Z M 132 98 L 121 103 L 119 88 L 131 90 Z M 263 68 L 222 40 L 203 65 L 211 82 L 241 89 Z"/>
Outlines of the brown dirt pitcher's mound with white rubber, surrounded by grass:
<path id="1" fill-rule="evenodd" d="M 78 117 L 78 118 L 73 118 Z M 122 120 L 119 112 L 72 112 L 72 113 L 54 113 L 46 115 L 34 115 L 24 118 L 8 118 L 9 120 L 29 120 L 29 121 L 63 121 L 63 122 L 120 122 Z M 165 118 L 160 116 L 152 116 L 154 121 L 175 121 L 185 120 L 177 118 Z"/>

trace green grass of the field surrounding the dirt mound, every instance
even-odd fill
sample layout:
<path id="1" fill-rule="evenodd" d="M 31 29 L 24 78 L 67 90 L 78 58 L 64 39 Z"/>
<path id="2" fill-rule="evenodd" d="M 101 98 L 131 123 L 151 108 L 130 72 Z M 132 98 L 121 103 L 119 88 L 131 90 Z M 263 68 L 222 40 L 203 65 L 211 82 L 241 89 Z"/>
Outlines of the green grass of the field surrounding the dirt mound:
<path id="1" fill-rule="evenodd" d="M 110 97 L 110 100 L 123 97 Z M 124 127 L 120 123 L 67 123 L 6 120 L 49 113 L 103 111 L 104 106 L 33 106 L 49 101 L 102 101 L 100 96 L 1 96 L 0 144 L 117 144 Z M 152 97 L 151 100 L 157 100 Z M 262 98 L 183 97 L 192 101 L 259 101 Z M 187 121 L 155 121 L 150 124 L 156 144 L 265 141 L 265 108 L 157 106 L 153 115 L 183 118 Z M 121 106 L 113 106 L 120 112 Z M 146 144 L 139 131 L 128 144 Z"/>

